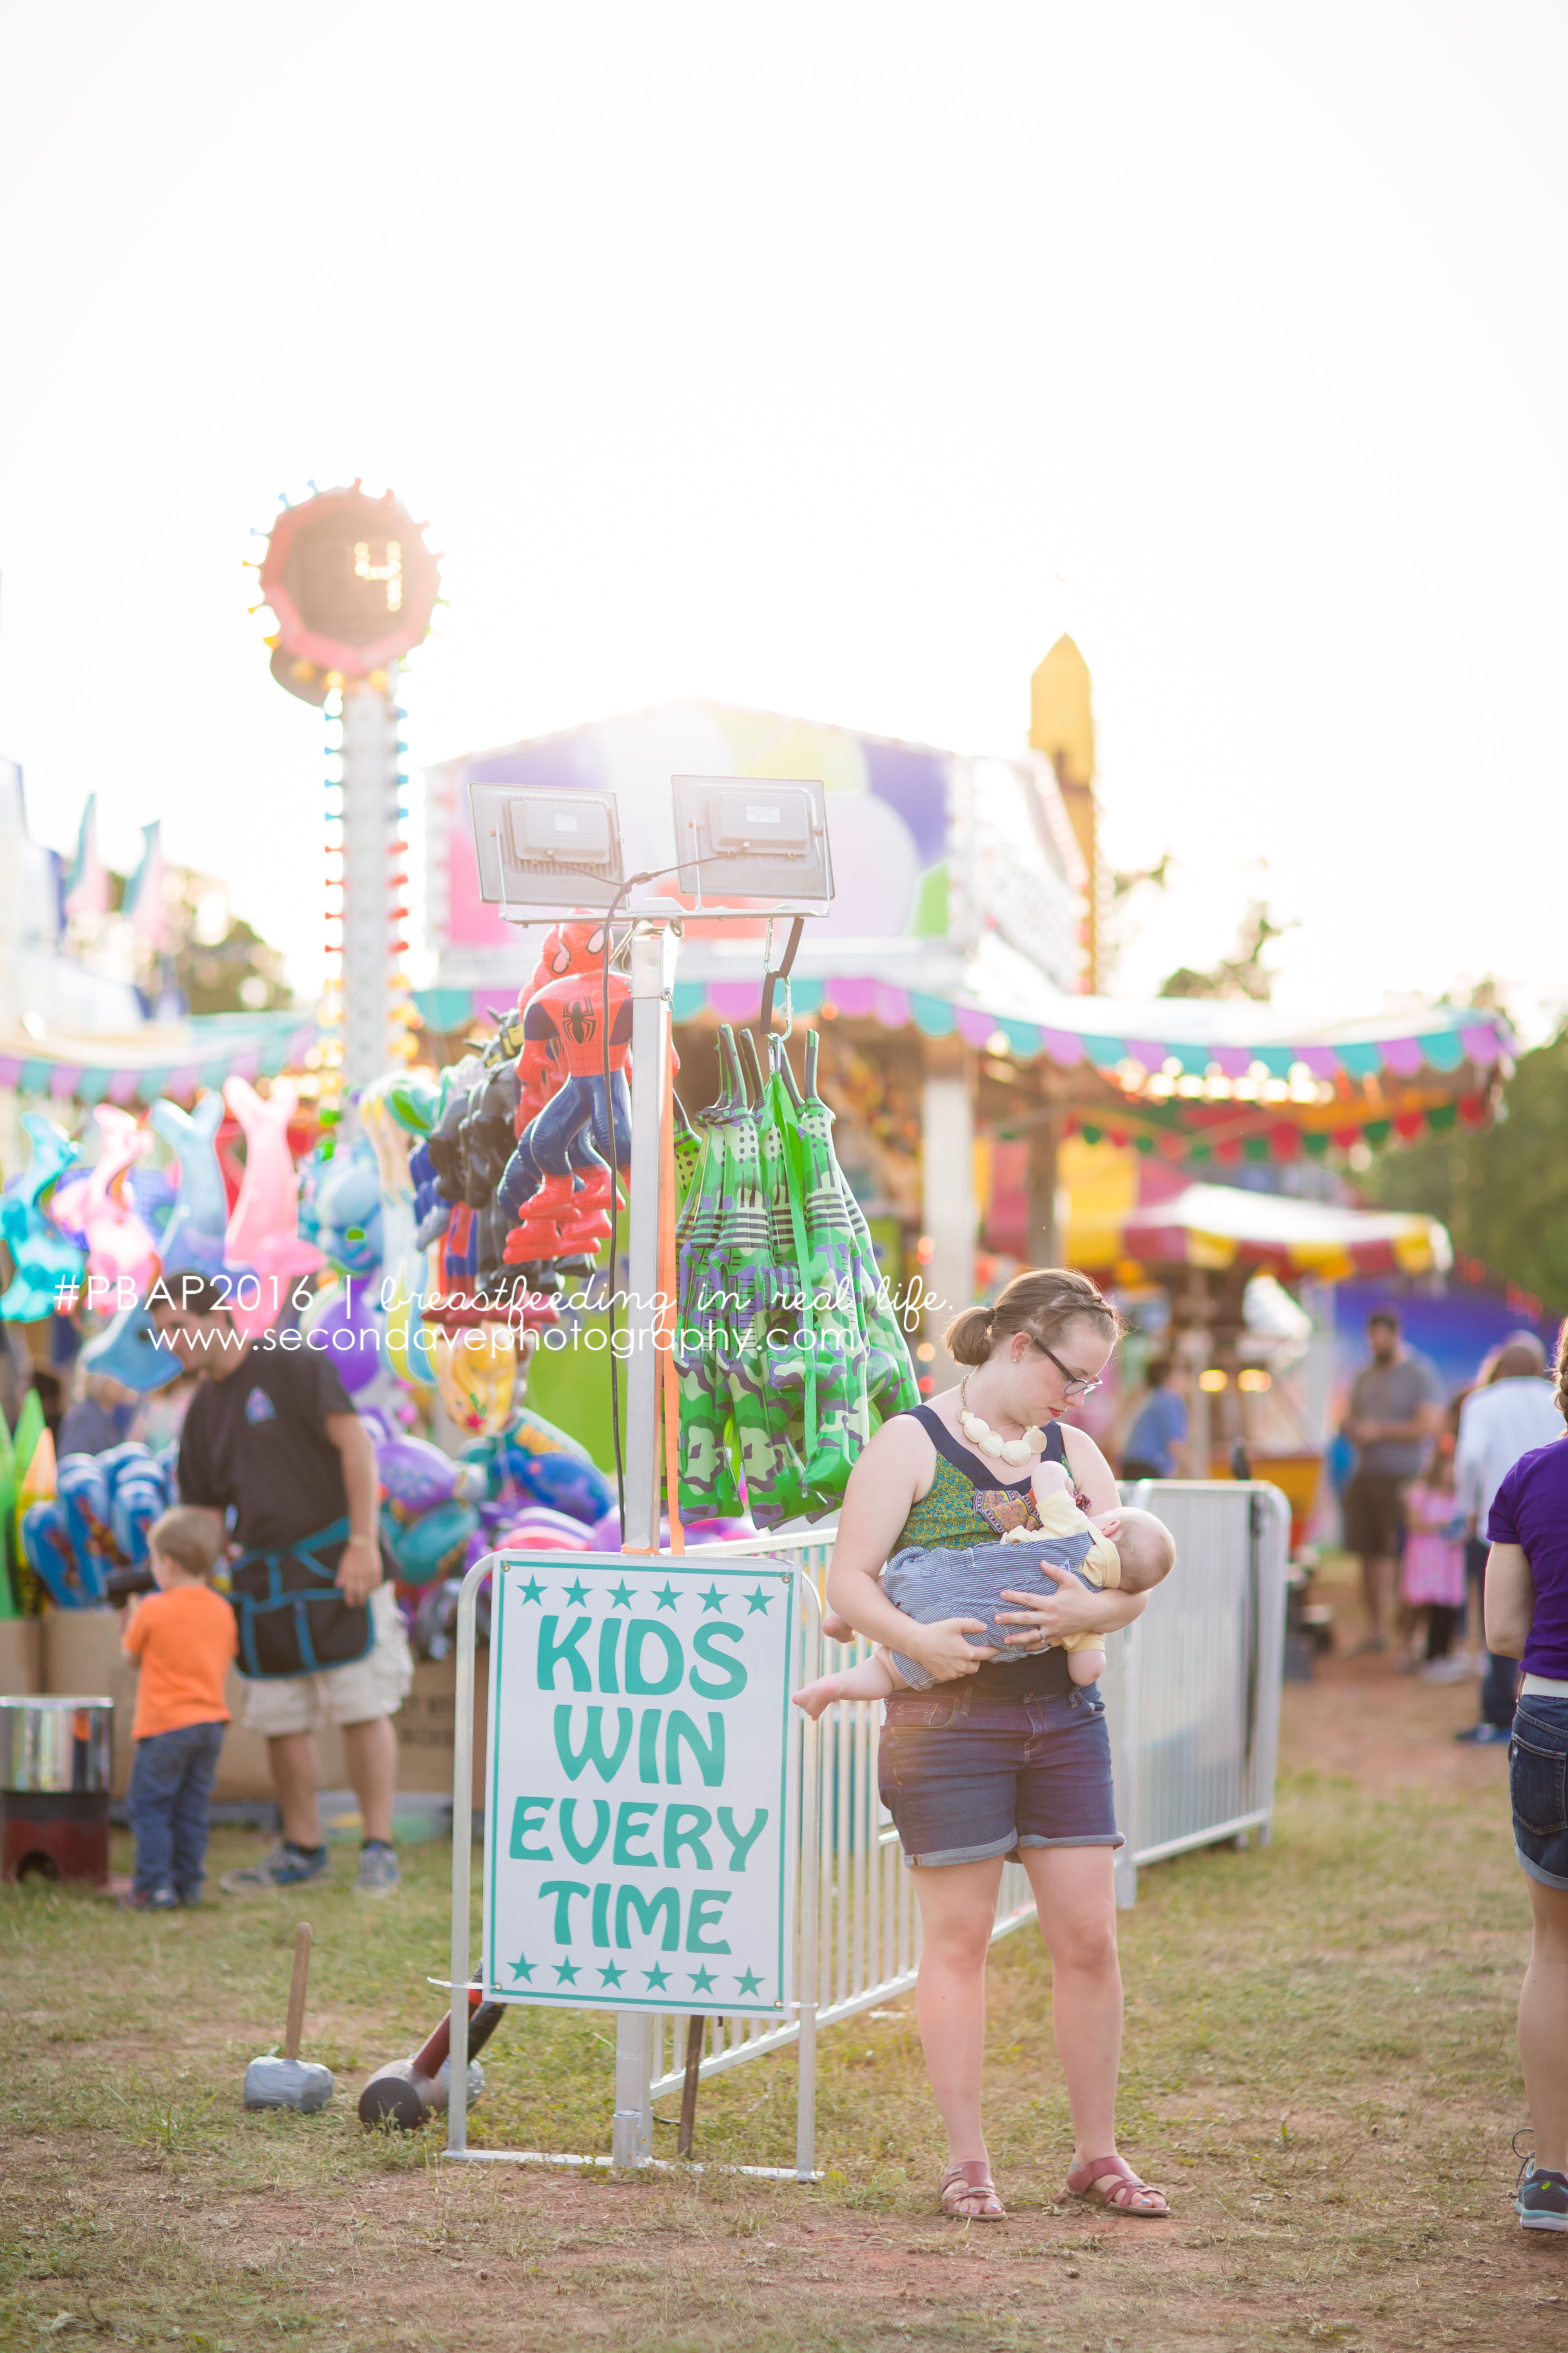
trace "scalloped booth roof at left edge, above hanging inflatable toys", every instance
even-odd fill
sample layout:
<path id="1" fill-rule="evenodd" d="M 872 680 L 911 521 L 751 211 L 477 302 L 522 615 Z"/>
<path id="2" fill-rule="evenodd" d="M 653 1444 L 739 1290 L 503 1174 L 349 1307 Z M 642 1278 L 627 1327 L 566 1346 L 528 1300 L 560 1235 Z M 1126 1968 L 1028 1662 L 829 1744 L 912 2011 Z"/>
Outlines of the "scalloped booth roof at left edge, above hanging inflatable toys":
<path id="1" fill-rule="evenodd" d="M 0 1087 L 59 1104 L 153 1104 L 188 1096 L 226 1078 L 259 1078 L 299 1064 L 315 1045 L 308 1014 L 190 1014 L 148 1021 L 120 1038 L 0 1033 Z"/>

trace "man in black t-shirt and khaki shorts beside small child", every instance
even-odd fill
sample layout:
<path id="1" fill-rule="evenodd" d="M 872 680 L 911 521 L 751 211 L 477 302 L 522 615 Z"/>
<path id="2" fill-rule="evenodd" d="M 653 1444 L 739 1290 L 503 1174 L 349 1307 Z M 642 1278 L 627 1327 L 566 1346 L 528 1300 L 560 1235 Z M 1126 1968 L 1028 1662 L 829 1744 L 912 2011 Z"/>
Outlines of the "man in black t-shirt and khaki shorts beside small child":
<path id="1" fill-rule="evenodd" d="M 169 1275 L 150 1294 L 160 1344 L 202 1374 L 179 1447 L 181 1501 L 233 1513 L 247 1729 L 268 1744 L 282 1840 L 228 1894 L 322 1878 L 315 1732 L 339 1725 L 360 1800 L 360 1887 L 397 1887 L 390 1718 L 414 1661 L 376 1539 L 376 1449 L 322 1348 L 303 1332 L 235 1332 L 226 1292 Z M 254 1558 L 252 1558 L 254 1555 Z"/>

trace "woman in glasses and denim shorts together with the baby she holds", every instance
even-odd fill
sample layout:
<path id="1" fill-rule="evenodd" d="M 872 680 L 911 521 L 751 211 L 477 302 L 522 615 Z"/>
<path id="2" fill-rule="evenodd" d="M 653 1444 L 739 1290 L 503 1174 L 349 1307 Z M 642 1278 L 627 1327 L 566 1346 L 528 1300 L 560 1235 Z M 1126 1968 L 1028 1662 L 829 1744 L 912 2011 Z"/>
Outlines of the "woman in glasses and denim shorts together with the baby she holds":
<path id="1" fill-rule="evenodd" d="M 964 1381 L 877 1431 L 851 1473 L 827 1572 L 830 1607 L 884 1645 L 853 1673 L 879 1678 L 889 1694 L 882 1795 L 922 1913 L 914 2007 L 947 2127 L 940 2200 L 964 2221 L 1004 2217 L 980 2129 L 980 2068 L 985 1955 L 1009 1857 L 1030 1875 L 1051 1953 L 1077 2139 L 1067 2188 L 1121 2214 L 1168 2212 L 1117 2155 L 1121 1838 L 1105 1704 L 1084 1675 L 1098 1673 L 1103 1638 L 1143 1612 L 1173 1548 L 1159 1522 L 1119 1511 L 1093 1438 L 1060 1424 L 1098 1388 L 1119 1332 L 1095 1285 L 1063 1268 L 1018 1275 L 994 1306 L 959 1315 L 945 1346 Z M 1018 1529 L 1025 1541 L 997 1560 L 990 1548 Z M 1114 1567 L 1117 1555 L 1119 1581 L 1095 1572 L 1095 1560 Z M 1020 1565 L 1016 1584 L 999 1581 L 999 1562 Z M 954 1607 L 936 1614 L 943 1577 Z M 799 1697 L 816 1713 L 846 1694 Z"/>

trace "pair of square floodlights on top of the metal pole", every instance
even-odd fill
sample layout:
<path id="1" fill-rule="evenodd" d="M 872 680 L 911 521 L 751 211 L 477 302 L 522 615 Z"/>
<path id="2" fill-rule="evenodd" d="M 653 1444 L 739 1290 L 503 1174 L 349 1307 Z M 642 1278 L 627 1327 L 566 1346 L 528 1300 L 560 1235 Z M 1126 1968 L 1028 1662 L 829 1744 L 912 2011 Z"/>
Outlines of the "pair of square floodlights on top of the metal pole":
<path id="1" fill-rule="evenodd" d="M 482 896 L 508 922 L 609 908 L 682 922 L 827 913 L 832 859 L 818 781 L 672 776 L 670 791 L 675 859 L 628 887 L 614 793 L 470 784 Z"/>

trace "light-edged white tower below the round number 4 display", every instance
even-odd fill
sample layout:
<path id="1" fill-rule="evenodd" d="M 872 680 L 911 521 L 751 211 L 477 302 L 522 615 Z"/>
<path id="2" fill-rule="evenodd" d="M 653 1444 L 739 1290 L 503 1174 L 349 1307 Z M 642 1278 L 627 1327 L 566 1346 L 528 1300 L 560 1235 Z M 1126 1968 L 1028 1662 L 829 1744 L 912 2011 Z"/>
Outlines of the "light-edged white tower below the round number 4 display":
<path id="1" fill-rule="evenodd" d="M 386 687 L 343 685 L 343 1094 L 393 1061 L 397 718 Z M 346 1122 L 348 1125 L 348 1122 Z"/>

